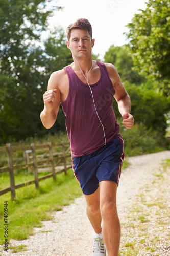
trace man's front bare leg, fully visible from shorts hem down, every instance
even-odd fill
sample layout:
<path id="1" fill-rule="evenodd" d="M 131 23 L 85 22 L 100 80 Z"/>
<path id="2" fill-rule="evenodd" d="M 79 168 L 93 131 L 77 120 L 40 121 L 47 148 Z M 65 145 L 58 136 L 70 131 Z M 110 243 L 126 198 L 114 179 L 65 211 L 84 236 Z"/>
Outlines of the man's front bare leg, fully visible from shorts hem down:
<path id="1" fill-rule="evenodd" d="M 103 219 L 103 239 L 108 256 L 118 256 L 120 223 L 116 207 L 117 184 L 113 181 L 100 182 L 100 209 Z"/>

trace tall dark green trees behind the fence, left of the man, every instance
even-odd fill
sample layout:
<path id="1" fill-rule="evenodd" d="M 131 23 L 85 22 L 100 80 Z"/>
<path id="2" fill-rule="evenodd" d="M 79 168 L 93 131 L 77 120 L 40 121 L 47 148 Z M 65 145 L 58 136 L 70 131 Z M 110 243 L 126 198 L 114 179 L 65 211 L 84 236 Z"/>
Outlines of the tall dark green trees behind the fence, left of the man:
<path id="1" fill-rule="evenodd" d="M 51 34 L 44 42 L 41 38 L 42 31 L 47 29 L 47 18 L 53 13 L 53 8 L 47 9 L 46 1 L 0 3 L 1 143 L 46 132 L 39 117 L 42 96 L 50 74 L 68 65 L 71 53 L 65 46 L 62 30 L 56 30 L 55 36 Z M 59 114 L 57 128 L 52 132 L 63 128 L 63 116 Z"/>

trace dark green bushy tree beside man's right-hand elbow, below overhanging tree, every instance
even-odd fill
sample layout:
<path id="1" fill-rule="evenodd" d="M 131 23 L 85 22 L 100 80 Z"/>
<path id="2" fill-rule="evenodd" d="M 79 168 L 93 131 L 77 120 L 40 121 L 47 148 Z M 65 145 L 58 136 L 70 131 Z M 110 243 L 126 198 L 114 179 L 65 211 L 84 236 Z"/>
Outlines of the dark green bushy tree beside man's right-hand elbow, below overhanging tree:
<path id="1" fill-rule="evenodd" d="M 164 137 L 167 128 L 165 114 L 170 108 L 167 97 L 155 90 L 151 81 L 139 87 L 129 83 L 127 91 L 131 97 L 131 113 L 135 122 L 144 124 L 148 130 L 157 131 L 159 137 Z"/>

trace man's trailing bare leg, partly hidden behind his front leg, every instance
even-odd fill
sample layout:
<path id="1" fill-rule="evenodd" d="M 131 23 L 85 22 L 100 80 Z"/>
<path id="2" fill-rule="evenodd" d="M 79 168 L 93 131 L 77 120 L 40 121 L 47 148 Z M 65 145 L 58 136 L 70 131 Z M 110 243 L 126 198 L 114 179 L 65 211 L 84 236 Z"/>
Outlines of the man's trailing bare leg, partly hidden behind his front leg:
<path id="1" fill-rule="evenodd" d="M 100 188 L 98 188 L 93 194 L 91 195 L 84 195 L 87 206 L 86 206 L 86 212 L 87 217 L 94 229 L 94 231 L 99 234 L 101 229 L 101 212 L 100 212 Z"/>

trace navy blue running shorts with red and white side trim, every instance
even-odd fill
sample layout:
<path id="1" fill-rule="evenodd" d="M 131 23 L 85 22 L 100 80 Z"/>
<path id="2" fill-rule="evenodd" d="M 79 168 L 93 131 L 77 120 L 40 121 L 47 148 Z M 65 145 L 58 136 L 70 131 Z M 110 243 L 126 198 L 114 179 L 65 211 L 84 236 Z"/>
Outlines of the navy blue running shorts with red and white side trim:
<path id="1" fill-rule="evenodd" d="M 123 160 L 122 138 L 114 139 L 91 154 L 72 157 L 72 168 L 83 194 L 93 194 L 102 180 L 111 180 L 118 185 Z"/>

